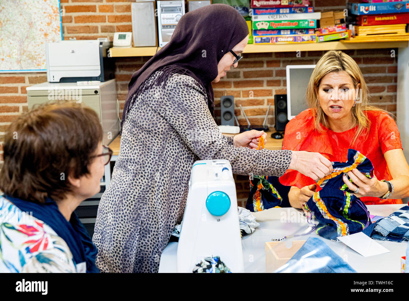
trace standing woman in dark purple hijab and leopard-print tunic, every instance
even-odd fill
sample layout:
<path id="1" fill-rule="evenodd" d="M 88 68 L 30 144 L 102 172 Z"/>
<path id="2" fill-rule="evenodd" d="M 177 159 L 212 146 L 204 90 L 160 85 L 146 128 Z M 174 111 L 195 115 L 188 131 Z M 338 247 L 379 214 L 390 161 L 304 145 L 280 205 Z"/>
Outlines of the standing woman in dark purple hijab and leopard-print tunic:
<path id="1" fill-rule="evenodd" d="M 252 149 L 263 132 L 221 134 L 212 117 L 211 82 L 237 66 L 248 37 L 244 18 L 232 7 L 196 9 L 132 76 L 119 156 L 93 236 L 101 272 L 157 272 L 182 221 L 197 160 L 227 159 L 236 174 L 280 176 L 292 168 L 318 179 L 332 171 L 317 153 Z"/>

